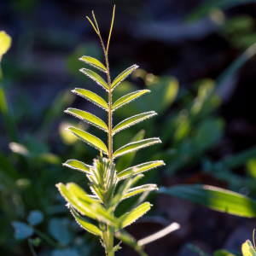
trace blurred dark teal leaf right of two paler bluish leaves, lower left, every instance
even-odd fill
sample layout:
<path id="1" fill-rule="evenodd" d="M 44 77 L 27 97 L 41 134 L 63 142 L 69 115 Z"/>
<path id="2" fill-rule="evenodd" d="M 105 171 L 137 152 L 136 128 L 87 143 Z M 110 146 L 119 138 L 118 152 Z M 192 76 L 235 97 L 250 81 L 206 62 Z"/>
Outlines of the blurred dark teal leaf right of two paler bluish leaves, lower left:
<path id="1" fill-rule="evenodd" d="M 67 218 L 51 218 L 49 220 L 49 234 L 62 245 L 68 245 L 72 241 L 72 236 L 68 230 L 69 221 Z"/>

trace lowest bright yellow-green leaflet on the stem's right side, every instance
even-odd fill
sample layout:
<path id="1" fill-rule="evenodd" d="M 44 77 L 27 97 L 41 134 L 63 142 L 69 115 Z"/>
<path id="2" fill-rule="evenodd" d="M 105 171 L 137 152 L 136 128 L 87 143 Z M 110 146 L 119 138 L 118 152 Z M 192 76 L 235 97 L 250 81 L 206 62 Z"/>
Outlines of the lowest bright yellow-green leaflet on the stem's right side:
<path id="1" fill-rule="evenodd" d="M 119 219 L 121 221 L 121 228 L 125 228 L 126 226 L 135 222 L 138 218 L 141 218 L 146 212 L 150 210 L 152 205 L 148 202 L 144 202 L 139 207 L 133 209 L 131 212 L 126 212 Z"/>

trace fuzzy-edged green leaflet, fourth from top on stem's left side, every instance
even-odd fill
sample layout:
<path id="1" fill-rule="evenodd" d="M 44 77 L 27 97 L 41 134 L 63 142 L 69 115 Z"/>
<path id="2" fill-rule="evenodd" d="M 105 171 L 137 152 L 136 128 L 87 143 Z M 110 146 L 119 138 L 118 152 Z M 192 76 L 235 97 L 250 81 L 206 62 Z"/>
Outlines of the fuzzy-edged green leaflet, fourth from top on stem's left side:
<path id="1" fill-rule="evenodd" d="M 96 127 L 102 129 L 103 131 L 108 132 L 108 126 L 105 124 L 105 122 L 102 121 L 102 119 L 99 119 L 94 114 L 76 109 L 76 108 L 67 108 L 65 113 L 72 114 L 73 116 L 89 123 L 90 125 L 95 125 Z"/>

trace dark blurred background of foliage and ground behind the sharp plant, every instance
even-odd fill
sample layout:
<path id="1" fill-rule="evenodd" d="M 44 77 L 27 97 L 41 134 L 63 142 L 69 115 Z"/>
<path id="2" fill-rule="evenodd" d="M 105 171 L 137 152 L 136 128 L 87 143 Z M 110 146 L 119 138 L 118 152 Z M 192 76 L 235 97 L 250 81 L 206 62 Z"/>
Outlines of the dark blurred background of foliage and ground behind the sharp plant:
<path id="1" fill-rule="evenodd" d="M 113 123 L 143 111 L 158 112 L 115 135 L 113 147 L 143 137 L 163 142 L 120 158 L 117 170 L 164 160 L 166 166 L 146 173 L 142 183 L 204 183 L 256 198 L 256 1 L 1 0 L 0 30 L 12 37 L 1 62 L 1 256 L 104 253 L 98 240 L 74 222 L 55 183 L 72 181 L 86 189 L 84 174 L 61 163 L 77 159 L 91 164 L 97 154 L 67 133 L 67 126 L 107 142 L 104 132 L 63 111 L 80 108 L 107 120 L 102 109 L 71 90 L 86 88 L 106 97 L 79 73 L 86 65 L 78 59 L 90 55 L 104 61 L 86 15 L 95 11 L 107 42 L 113 4 L 112 79 L 132 64 L 139 66 L 114 90 L 113 100 L 136 89 L 152 91 L 119 108 Z M 172 196 L 151 195 L 149 200 L 154 208 L 128 227 L 132 236 L 141 239 L 172 222 L 181 224 L 180 230 L 148 244 L 149 256 L 199 255 L 188 243 L 209 255 L 219 248 L 239 255 L 241 243 L 256 227 L 255 219 L 213 212 Z M 124 201 L 117 215 L 131 201 Z M 41 219 L 34 230 L 25 224 L 32 216 Z M 14 229 L 12 221 L 24 224 L 13 224 Z M 117 255 L 137 254 L 124 246 Z"/>

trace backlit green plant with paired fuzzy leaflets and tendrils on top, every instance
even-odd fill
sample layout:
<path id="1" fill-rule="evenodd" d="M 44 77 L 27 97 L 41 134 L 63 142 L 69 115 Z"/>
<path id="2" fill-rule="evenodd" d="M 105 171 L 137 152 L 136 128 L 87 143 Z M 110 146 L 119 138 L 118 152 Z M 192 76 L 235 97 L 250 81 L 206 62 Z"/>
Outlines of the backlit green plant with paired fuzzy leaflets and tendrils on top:
<path id="1" fill-rule="evenodd" d="M 105 47 L 93 12 L 92 15 L 95 24 L 88 17 L 87 18 L 90 20 L 91 25 L 101 40 L 102 49 L 106 60 L 106 67 L 102 64 L 102 62 L 89 56 L 83 56 L 79 60 L 84 61 L 86 64 L 89 64 L 92 67 L 96 67 L 103 73 L 106 73 L 108 82 L 102 79 L 102 77 L 100 77 L 97 73 L 89 69 L 82 68 L 80 71 L 90 79 L 94 80 L 96 84 L 101 85 L 102 88 L 108 92 L 108 103 L 105 102 L 102 97 L 97 96 L 95 93 L 89 90 L 77 88 L 73 90 L 73 93 L 84 97 L 88 101 L 95 103 L 98 107 L 106 110 L 108 112 L 108 125 L 95 115 L 79 109 L 68 108 L 66 113 L 72 114 L 90 125 L 95 125 L 102 131 L 107 132 L 108 147 L 102 142 L 102 140 L 94 137 L 90 133 L 79 130 L 78 128 L 68 127 L 68 131 L 72 132 L 76 137 L 101 152 L 101 155 L 94 160 L 93 166 L 89 166 L 78 160 L 67 160 L 67 162 L 64 164 L 64 166 L 84 172 L 84 174 L 90 180 L 90 189 L 94 195 L 88 195 L 84 189 L 81 189 L 75 183 L 67 183 L 66 185 L 63 183 L 58 183 L 56 186 L 60 190 L 61 195 L 67 201 L 68 207 L 79 225 L 83 227 L 84 230 L 87 230 L 88 232 L 100 237 L 102 245 L 105 248 L 108 256 L 114 255 L 114 252 L 120 248 L 119 244 L 114 246 L 113 235 L 131 247 L 134 247 L 141 255 L 146 255 L 146 253 L 143 252 L 142 245 L 137 243 L 137 241 L 135 241 L 133 237 L 123 229 L 125 226 L 133 223 L 135 220 L 137 220 L 137 218 L 142 217 L 143 214 L 148 212 L 151 207 L 150 203 L 141 203 L 142 200 L 139 199 L 137 203 L 131 207 L 130 212 L 126 212 L 120 217 L 116 217 L 114 215 L 114 211 L 116 207 L 118 207 L 120 201 L 123 201 L 133 195 L 148 193 L 149 191 L 156 190 L 157 186 L 155 184 L 145 184 L 137 187 L 134 186 L 137 181 L 143 177 L 142 172 L 146 172 L 157 166 L 163 166 L 164 162 L 161 160 L 150 161 L 138 166 L 127 168 L 125 170 L 119 170 L 118 172 L 114 165 L 114 159 L 121 155 L 129 154 L 137 151 L 138 149 L 161 142 L 159 138 L 155 137 L 142 139 L 133 143 L 128 143 L 113 152 L 113 135 L 130 127 L 131 125 L 136 125 L 145 119 L 153 117 L 156 113 L 154 111 L 139 113 L 121 121 L 118 125 L 113 127 L 113 111 L 137 99 L 137 97 L 143 96 L 144 94 L 148 93 L 149 90 L 137 90 L 129 93 L 128 95 L 120 97 L 116 102 L 112 102 L 113 90 L 129 74 L 137 69 L 137 65 L 128 67 L 111 82 L 108 64 L 108 47 L 113 28 L 113 20 L 108 36 L 108 44 L 107 47 Z M 104 158 L 102 154 L 108 155 L 108 159 Z M 122 181 L 122 183 L 119 184 L 120 181 Z M 84 215 L 85 218 L 81 215 Z M 91 218 L 92 221 L 97 225 L 90 223 L 87 218 Z"/>

